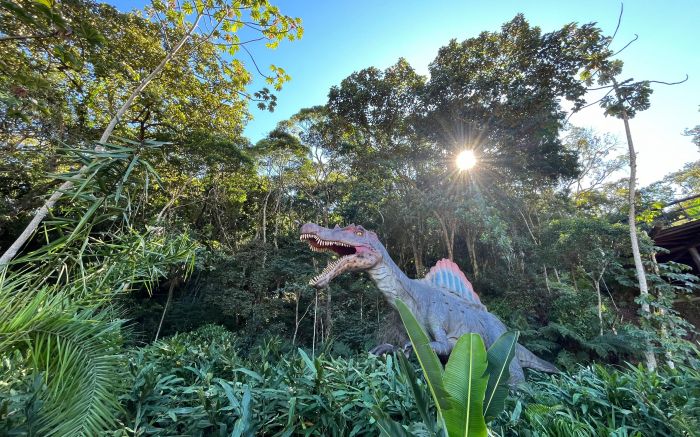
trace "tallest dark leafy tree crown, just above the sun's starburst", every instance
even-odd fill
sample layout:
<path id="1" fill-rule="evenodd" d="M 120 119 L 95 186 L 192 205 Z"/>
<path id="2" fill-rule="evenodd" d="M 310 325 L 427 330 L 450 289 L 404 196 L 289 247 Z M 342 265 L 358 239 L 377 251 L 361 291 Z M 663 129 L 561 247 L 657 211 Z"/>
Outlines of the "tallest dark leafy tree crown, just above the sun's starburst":
<path id="1" fill-rule="evenodd" d="M 558 136 L 559 100 L 583 105 L 577 73 L 599 39 L 591 24 L 543 34 L 518 15 L 500 32 L 450 41 L 430 64 L 426 134 L 443 149 L 475 149 L 492 179 L 575 176 L 575 156 Z"/>

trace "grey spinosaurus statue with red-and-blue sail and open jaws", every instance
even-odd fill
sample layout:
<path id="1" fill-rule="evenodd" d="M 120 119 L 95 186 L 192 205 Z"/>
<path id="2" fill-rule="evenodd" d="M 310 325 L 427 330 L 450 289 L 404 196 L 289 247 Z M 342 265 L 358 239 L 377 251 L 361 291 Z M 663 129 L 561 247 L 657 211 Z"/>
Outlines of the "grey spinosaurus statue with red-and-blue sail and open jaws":
<path id="1" fill-rule="evenodd" d="M 430 346 L 443 359 L 463 334 L 481 335 L 488 348 L 507 331 L 503 322 L 486 310 L 472 284 L 450 260 L 439 261 L 423 279 L 410 279 L 391 259 L 377 234 L 362 226 L 328 229 L 307 223 L 301 228 L 300 239 L 315 252 L 338 255 L 309 285 L 323 288 L 344 272 L 367 271 L 389 305 L 396 308 L 396 299 L 401 299 L 408 306 L 433 340 Z M 391 345 L 381 345 L 373 351 L 378 354 L 392 349 Z M 518 345 L 515 358 L 509 368 L 511 384 L 524 381 L 523 367 L 558 372 L 553 364 L 522 345 Z"/>

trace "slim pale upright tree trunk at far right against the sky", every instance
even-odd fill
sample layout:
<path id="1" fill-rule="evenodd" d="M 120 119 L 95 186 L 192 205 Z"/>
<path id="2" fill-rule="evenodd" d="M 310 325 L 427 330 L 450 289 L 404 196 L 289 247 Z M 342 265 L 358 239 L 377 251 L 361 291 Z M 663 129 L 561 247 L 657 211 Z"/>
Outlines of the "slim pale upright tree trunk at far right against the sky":
<path id="1" fill-rule="evenodd" d="M 615 95 L 618 101 L 622 101 L 620 96 L 620 90 L 615 79 L 613 79 L 613 86 L 615 87 Z M 634 207 L 636 198 L 635 184 L 637 182 L 637 153 L 634 150 L 634 143 L 632 142 L 632 132 L 630 130 L 629 116 L 627 115 L 627 110 L 624 108 L 624 105 L 622 107 L 622 121 L 625 125 L 625 135 L 627 136 L 627 146 L 629 149 L 630 159 L 630 179 L 628 187 L 629 212 L 627 215 L 627 219 L 629 221 L 630 226 L 630 242 L 632 243 L 632 257 L 634 258 L 634 267 L 637 271 L 637 281 L 639 282 L 639 294 L 642 296 L 642 299 L 647 300 L 649 296 L 649 286 L 647 285 L 647 277 L 644 273 L 642 256 L 639 252 L 639 240 L 637 239 L 637 214 Z M 651 315 L 651 310 L 647 302 L 642 303 L 642 312 L 644 312 L 646 316 Z M 649 370 L 656 369 L 656 357 L 651 351 L 650 346 L 644 352 L 644 355 L 647 361 L 647 368 Z"/>

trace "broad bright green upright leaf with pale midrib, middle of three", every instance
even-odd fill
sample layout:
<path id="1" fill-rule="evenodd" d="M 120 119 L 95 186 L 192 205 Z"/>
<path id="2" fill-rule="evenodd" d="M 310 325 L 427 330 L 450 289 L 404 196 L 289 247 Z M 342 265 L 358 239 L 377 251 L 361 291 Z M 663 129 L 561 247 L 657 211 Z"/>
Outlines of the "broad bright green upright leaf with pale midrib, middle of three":
<path id="1" fill-rule="evenodd" d="M 443 418 L 450 437 L 486 437 L 483 408 L 487 366 L 481 336 L 461 336 L 445 366 L 445 388 L 452 399 L 452 408 L 443 412 Z"/>

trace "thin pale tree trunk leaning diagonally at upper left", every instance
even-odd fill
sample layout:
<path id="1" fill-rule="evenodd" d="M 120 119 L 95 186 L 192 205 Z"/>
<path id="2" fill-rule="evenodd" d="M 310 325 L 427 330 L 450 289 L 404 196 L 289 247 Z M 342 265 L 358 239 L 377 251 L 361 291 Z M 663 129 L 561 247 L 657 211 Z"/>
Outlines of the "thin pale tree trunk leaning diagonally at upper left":
<path id="1" fill-rule="evenodd" d="M 199 26 L 199 21 L 202 19 L 201 15 L 197 16 L 196 21 L 194 24 L 192 24 L 192 27 L 185 33 L 185 35 L 180 39 L 180 41 L 173 47 L 173 49 L 163 58 L 160 64 L 149 74 L 145 79 L 139 83 L 139 85 L 132 91 L 131 95 L 126 99 L 126 102 L 122 105 L 121 108 L 119 108 L 119 111 L 117 111 L 117 114 L 112 118 L 112 120 L 109 122 L 109 125 L 107 125 L 107 128 L 105 131 L 102 133 L 102 137 L 100 138 L 100 142 L 97 146 L 95 146 L 96 151 L 104 151 L 104 146 L 109 139 L 109 137 L 112 135 L 112 131 L 114 131 L 114 128 L 117 126 L 117 123 L 121 121 L 122 117 L 126 113 L 126 111 L 131 107 L 131 104 L 134 102 L 136 97 L 141 94 L 141 92 L 148 86 L 148 84 L 158 75 L 160 72 L 165 68 L 165 65 L 170 62 L 171 59 L 175 57 L 177 52 L 182 48 L 182 46 L 185 45 L 188 39 L 192 36 L 194 31 L 197 29 L 197 26 Z M 87 166 L 83 166 L 80 171 L 78 172 L 79 176 L 82 176 L 85 171 L 87 171 Z M 49 210 L 53 208 L 56 205 L 56 202 L 58 202 L 58 199 L 63 196 L 63 193 L 70 190 L 73 187 L 73 181 L 66 181 L 63 184 L 61 184 L 60 187 L 56 191 L 51 194 L 49 199 L 42 205 L 41 208 L 34 214 L 34 217 L 32 220 L 29 222 L 26 228 L 24 228 L 24 231 L 17 237 L 17 239 L 10 245 L 10 247 L 7 248 L 5 253 L 2 254 L 0 257 L 0 267 L 6 265 L 9 263 L 12 258 L 17 255 L 17 252 L 24 246 L 24 244 L 31 238 L 32 235 L 34 235 L 34 232 L 36 232 L 37 228 L 41 224 L 41 222 L 46 218 L 46 216 L 49 214 Z"/>

